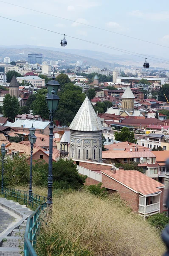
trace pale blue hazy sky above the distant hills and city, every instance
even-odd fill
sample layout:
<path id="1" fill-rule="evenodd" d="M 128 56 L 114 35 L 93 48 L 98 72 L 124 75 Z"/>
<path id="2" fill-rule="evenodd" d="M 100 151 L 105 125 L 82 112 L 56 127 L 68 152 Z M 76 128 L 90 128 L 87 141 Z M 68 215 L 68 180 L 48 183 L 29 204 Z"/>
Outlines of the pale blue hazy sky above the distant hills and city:
<path id="1" fill-rule="evenodd" d="M 8 3 L 169 47 L 169 0 L 5 0 Z M 72 37 L 169 60 L 169 48 L 51 17 L 0 2 L 0 16 L 53 30 Z M 62 35 L 0 17 L 0 45 L 61 48 Z M 110 54 L 121 52 L 67 37 L 67 48 L 88 49 Z M 62 47 L 64 48 L 64 47 Z M 62 50 L 62 49 L 61 49 Z"/>

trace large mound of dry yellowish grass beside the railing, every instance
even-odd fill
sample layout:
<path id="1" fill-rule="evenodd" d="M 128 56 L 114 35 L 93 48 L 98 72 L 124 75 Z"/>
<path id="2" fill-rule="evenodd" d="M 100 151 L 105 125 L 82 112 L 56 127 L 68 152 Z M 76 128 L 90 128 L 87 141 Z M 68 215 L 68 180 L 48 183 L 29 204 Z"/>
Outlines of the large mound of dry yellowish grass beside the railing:
<path id="1" fill-rule="evenodd" d="M 42 223 L 43 240 L 37 244 L 41 256 L 82 255 L 68 254 L 65 245 L 61 254 L 54 253 L 54 234 L 93 256 L 161 256 L 165 251 L 155 229 L 127 207 L 120 207 L 117 200 L 103 200 L 84 191 L 54 195 L 53 201 L 51 221 Z"/>

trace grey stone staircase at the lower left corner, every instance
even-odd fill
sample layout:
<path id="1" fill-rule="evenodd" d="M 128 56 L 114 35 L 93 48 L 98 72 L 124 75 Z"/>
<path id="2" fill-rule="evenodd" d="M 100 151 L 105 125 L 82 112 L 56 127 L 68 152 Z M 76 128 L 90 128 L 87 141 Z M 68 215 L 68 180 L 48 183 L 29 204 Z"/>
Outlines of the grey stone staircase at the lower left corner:
<path id="1" fill-rule="evenodd" d="M 3 212 L 3 215 L 6 215 L 7 219 L 4 217 L 5 225 L 2 223 L 2 228 L 0 229 L 0 256 L 21 256 L 23 255 L 24 249 L 24 233 L 27 218 L 33 211 L 26 206 L 20 205 L 12 200 L 7 200 L 6 198 L 0 198 L 0 206 L 9 211 L 7 214 Z M 10 217 L 12 216 L 9 214 L 10 212 L 11 215 L 14 213 L 20 216 L 20 220 L 17 223 L 16 221 L 15 223 L 13 222 L 13 225 L 11 224 Z M 14 217 L 13 219 L 16 220 Z M 6 227 L 7 224 L 9 228 Z"/>

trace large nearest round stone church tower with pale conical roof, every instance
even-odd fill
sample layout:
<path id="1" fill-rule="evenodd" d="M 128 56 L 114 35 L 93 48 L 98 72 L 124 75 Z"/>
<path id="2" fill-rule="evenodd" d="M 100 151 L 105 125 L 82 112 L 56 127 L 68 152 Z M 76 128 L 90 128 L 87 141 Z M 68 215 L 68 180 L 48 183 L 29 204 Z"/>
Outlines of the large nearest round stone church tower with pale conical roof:
<path id="1" fill-rule="evenodd" d="M 88 97 L 70 124 L 69 158 L 102 161 L 102 125 Z"/>

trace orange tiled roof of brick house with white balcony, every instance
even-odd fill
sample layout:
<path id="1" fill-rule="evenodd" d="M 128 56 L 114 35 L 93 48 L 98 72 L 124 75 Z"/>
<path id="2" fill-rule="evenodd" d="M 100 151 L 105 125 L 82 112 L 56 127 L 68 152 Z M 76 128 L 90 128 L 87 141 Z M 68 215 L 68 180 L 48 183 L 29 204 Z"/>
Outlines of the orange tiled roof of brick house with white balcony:
<path id="1" fill-rule="evenodd" d="M 160 182 L 153 180 L 138 171 L 118 170 L 114 174 L 111 171 L 101 172 L 144 195 L 160 192 L 160 189 L 158 188 L 164 187 Z"/>

